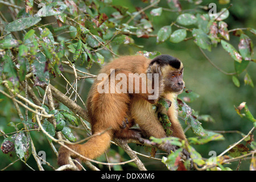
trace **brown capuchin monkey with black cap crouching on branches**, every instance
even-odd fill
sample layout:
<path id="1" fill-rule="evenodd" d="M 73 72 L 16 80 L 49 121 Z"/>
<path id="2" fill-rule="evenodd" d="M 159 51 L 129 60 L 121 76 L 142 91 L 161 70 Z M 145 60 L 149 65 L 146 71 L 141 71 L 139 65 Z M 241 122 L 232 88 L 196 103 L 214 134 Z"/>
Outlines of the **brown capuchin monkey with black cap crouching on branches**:
<path id="1" fill-rule="evenodd" d="M 102 134 L 84 144 L 67 146 L 86 158 L 95 159 L 110 147 L 112 138 L 137 139 L 143 143 L 144 137 L 167 137 L 152 104 L 168 115 L 172 137 L 187 141 L 177 119 L 176 106 L 177 94 L 183 88 L 183 64 L 175 57 L 160 55 L 152 60 L 141 55 L 119 57 L 101 69 L 86 102 L 92 134 Z M 159 97 L 171 101 L 168 110 L 158 104 Z M 135 124 L 140 130 L 130 129 Z M 177 147 L 160 144 L 158 148 L 170 153 Z M 70 156 L 85 160 L 61 146 L 58 164 L 68 164 Z M 187 151 L 185 156 L 189 157 Z"/>

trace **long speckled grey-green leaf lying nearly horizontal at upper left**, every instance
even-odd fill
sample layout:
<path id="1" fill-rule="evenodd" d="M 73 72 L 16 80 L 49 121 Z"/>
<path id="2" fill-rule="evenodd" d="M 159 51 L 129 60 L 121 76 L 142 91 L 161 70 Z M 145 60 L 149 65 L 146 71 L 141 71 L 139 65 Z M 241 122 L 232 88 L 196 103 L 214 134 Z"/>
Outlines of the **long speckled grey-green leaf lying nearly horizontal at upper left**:
<path id="1" fill-rule="evenodd" d="M 13 22 L 7 24 L 5 31 L 15 32 L 24 30 L 26 28 L 34 26 L 36 23 L 40 22 L 40 17 L 30 17 L 30 18 L 20 18 Z"/>

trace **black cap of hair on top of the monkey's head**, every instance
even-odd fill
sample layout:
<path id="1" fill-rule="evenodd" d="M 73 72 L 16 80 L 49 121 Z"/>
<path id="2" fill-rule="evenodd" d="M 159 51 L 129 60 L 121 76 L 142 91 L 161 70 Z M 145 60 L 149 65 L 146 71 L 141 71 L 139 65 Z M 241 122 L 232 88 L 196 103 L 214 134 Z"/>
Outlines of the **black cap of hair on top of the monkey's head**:
<path id="1" fill-rule="evenodd" d="M 176 69 L 179 69 L 180 65 L 181 65 L 181 62 L 179 59 L 177 59 L 176 57 L 172 57 L 170 55 L 156 56 L 154 59 L 151 60 L 150 65 L 152 65 L 154 63 L 159 64 L 161 66 L 168 64 L 171 67 L 174 67 Z"/>

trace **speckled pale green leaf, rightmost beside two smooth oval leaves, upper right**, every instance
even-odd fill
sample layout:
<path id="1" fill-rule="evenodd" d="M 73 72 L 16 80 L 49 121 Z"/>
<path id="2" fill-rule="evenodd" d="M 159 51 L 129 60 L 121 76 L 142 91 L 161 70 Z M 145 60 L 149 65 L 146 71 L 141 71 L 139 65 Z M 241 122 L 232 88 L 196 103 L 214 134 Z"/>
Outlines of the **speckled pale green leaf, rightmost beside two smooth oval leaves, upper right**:
<path id="1" fill-rule="evenodd" d="M 197 44 L 197 46 L 208 49 L 208 51 L 211 51 L 211 43 L 210 39 L 208 38 L 208 35 L 205 34 L 203 30 L 194 28 L 192 31 L 192 35 L 195 38 L 194 42 Z"/>

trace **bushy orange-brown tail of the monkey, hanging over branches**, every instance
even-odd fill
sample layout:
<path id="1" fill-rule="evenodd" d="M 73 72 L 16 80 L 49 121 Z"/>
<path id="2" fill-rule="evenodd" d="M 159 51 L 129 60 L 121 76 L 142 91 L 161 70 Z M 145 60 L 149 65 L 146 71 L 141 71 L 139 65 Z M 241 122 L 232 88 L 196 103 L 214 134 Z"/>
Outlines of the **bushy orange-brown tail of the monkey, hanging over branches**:
<path id="1" fill-rule="evenodd" d="M 90 138 L 84 144 L 66 144 L 69 148 L 76 151 L 77 153 L 85 156 L 89 159 L 95 159 L 102 155 L 110 146 L 110 140 L 112 139 L 112 131 L 106 131 L 105 133 Z M 74 159 L 79 159 L 85 161 L 86 159 L 81 158 L 74 152 L 68 150 L 67 148 L 61 146 L 59 149 L 58 164 L 63 166 L 68 164 L 69 157 Z"/>

